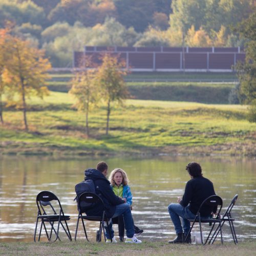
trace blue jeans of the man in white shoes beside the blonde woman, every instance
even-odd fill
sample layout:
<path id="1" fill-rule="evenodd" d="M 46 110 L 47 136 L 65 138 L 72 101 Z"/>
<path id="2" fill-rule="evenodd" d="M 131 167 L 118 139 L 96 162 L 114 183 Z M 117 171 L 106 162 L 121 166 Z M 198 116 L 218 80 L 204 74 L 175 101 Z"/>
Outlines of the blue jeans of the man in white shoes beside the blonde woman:
<path id="1" fill-rule="evenodd" d="M 127 238 L 132 238 L 134 236 L 134 225 L 133 225 L 133 218 L 132 218 L 132 212 L 130 208 L 130 204 L 119 204 L 116 206 L 116 211 L 112 218 L 115 218 L 117 216 L 123 216 L 124 220 L 124 228 L 126 230 L 126 237 Z M 106 233 L 106 239 L 110 239 L 114 237 L 114 230 L 112 227 L 112 220 L 109 222 L 110 226 L 110 232 L 109 234 L 109 229 L 106 226 L 106 223 L 104 223 L 105 226 L 105 233 Z"/>

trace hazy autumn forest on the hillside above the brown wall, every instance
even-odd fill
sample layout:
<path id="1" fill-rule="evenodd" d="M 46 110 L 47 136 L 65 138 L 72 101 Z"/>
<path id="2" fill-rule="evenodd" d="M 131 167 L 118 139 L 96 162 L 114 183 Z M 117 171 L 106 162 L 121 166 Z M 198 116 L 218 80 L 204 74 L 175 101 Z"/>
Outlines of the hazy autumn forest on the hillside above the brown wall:
<path id="1" fill-rule="evenodd" d="M 45 50 L 53 67 L 71 67 L 88 46 L 244 47 L 232 29 L 253 0 L 1 0 L 0 28 Z"/>

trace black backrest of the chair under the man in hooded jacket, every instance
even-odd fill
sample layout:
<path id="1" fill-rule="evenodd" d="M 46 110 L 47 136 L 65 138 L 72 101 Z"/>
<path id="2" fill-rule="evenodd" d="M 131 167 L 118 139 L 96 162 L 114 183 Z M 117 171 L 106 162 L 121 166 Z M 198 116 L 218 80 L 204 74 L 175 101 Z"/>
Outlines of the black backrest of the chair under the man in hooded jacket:
<path id="1" fill-rule="evenodd" d="M 101 204 L 102 208 L 104 208 L 102 199 L 97 194 L 92 192 L 82 193 L 77 201 L 77 206 L 80 213 L 86 212 L 88 209 L 93 208 L 96 204 Z"/>

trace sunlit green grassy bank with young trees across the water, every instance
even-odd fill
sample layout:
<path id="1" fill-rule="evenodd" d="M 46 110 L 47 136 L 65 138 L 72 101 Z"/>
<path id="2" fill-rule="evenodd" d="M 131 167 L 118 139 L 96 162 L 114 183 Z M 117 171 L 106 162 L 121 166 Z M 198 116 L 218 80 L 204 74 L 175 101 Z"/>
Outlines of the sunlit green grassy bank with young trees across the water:
<path id="1" fill-rule="evenodd" d="M 21 111 L 5 111 L 0 154 L 256 155 L 256 124 L 246 120 L 246 106 L 127 100 L 113 109 L 109 136 L 105 107 L 92 111 L 87 138 L 84 113 L 72 109 L 73 102 L 56 92 L 31 99 L 29 132 Z"/>

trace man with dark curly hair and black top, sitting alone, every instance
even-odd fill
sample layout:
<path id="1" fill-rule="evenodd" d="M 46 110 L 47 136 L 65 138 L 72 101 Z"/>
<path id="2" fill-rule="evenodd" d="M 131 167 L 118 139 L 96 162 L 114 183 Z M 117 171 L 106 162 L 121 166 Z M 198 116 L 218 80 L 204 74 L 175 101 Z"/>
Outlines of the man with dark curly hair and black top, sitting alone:
<path id="1" fill-rule="evenodd" d="M 186 166 L 186 170 L 190 175 L 190 180 L 185 187 L 185 193 L 182 199 L 178 198 L 178 204 L 170 204 L 168 211 L 172 219 L 176 239 L 168 241 L 169 243 L 183 243 L 190 229 L 190 222 L 187 219 L 194 219 L 201 203 L 208 197 L 216 195 L 214 185 L 211 181 L 204 178 L 200 164 L 191 162 Z M 209 207 L 201 208 L 200 214 L 202 218 L 209 218 L 211 212 L 216 212 L 217 209 Z M 180 217 L 183 221 L 183 229 L 180 222 Z M 187 238 L 187 243 L 191 243 L 191 236 Z"/>

